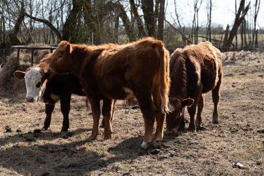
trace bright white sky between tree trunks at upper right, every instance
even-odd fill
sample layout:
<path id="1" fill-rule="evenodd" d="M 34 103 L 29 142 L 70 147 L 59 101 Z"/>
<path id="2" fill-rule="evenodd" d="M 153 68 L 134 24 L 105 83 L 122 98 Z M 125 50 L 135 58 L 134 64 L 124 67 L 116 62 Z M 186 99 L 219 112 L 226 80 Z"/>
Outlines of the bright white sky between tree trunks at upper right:
<path id="1" fill-rule="evenodd" d="M 193 16 L 194 16 L 194 0 L 175 0 L 177 4 L 177 13 L 181 18 L 181 25 L 192 26 Z M 199 0 L 200 2 L 201 0 Z M 208 0 L 203 0 L 201 8 L 198 12 L 199 24 L 206 25 L 207 23 L 207 2 Z M 246 5 L 249 3 L 248 0 L 245 1 Z M 237 0 L 237 9 L 239 7 L 240 0 Z M 255 1 L 251 0 L 249 11 L 247 12 L 249 21 L 252 20 L 254 14 L 254 4 Z M 250 15 L 251 14 L 251 15 Z M 174 11 L 174 0 L 167 0 L 166 6 L 166 20 L 173 22 L 176 20 Z M 212 25 L 221 25 L 226 28 L 227 24 L 232 26 L 235 19 L 235 0 L 212 0 Z M 253 22 L 253 21 L 252 21 Z M 199 25 L 199 26 L 200 26 Z M 260 8 L 257 16 L 257 28 L 259 26 L 263 29 L 264 27 L 264 1 L 260 0 Z"/>

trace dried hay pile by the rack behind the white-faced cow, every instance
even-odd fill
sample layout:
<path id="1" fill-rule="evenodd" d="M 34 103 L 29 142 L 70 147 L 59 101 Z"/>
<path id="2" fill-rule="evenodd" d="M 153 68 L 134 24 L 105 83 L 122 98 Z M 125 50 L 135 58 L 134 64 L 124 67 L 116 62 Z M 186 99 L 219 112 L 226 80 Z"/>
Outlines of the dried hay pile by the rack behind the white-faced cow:
<path id="1" fill-rule="evenodd" d="M 30 45 L 30 46 L 44 46 L 44 45 Z M 50 50 L 35 50 L 34 51 L 34 65 L 49 53 Z M 19 62 L 17 60 L 17 51 L 14 51 L 7 58 L 7 63 L 0 70 L 0 96 L 17 96 L 26 92 L 24 80 L 19 80 L 14 76 L 16 70 L 25 71 L 31 66 L 31 50 L 20 49 Z"/>

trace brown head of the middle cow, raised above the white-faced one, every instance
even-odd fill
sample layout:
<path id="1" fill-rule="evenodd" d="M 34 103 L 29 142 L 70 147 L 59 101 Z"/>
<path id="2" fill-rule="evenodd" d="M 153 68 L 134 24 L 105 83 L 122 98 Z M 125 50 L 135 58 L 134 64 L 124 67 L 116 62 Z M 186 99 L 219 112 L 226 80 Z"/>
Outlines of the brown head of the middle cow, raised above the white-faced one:
<path id="1" fill-rule="evenodd" d="M 61 41 L 52 54 L 48 71 L 57 74 L 72 72 L 72 46 L 67 41 Z"/>

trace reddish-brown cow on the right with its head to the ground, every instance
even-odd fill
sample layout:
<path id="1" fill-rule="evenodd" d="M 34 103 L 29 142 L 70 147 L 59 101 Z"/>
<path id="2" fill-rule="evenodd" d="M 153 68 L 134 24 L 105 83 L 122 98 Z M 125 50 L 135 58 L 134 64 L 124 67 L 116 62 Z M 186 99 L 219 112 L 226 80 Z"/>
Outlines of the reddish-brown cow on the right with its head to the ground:
<path id="1" fill-rule="evenodd" d="M 212 91 L 214 103 L 213 123 L 218 124 L 218 102 L 222 82 L 221 52 L 210 42 L 189 45 L 176 49 L 170 57 L 170 92 L 169 102 L 173 112 L 166 116 L 168 133 L 184 130 L 184 108 L 190 114 L 189 130 L 201 127 L 204 107 L 204 93 Z M 198 105 L 196 124 L 194 116 Z"/>

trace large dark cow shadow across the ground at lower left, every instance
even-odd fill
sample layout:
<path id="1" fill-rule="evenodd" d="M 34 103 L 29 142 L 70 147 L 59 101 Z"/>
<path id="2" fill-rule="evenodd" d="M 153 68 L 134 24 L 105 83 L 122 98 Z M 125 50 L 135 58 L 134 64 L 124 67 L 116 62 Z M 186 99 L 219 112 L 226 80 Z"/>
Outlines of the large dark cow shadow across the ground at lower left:
<path id="1" fill-rule="evenodd" d="M 94 170 L 104 172 L 105 167 L 123 161 L 133 161 L 134 159 L 149 155 L 149 151 L 142 149 L 140 144 L 143 136 L 131 137 L 118 143 L 114 147 L 110 147 L 106 152 L 111 153 L 110 156 L 106 155 L 102 150 L 90 150 L 87 147 L 93 145 L 93 142 L 98 145 L 97 141 L 90 139 L 79 140 L 74 142 L 60 143 L 64 137 L 74 137 L 74 135 L 91 131 L 91 129 L 77 129 L 68 133 L 40 133 L 38 134 L 22 133 L 14 136 L 7 136 L 0 138 L 0 146 L 15 143 L 13 146 L 0 150 L 0 164 L 10 170 L 15 170 L 18 173 L 25 175 L 83 175 Z M 68 136 L 67 136 L 68 135 Z M 49 142 L 38 142 L 28 140 L 28 144 L 22 141 L 36 138 L 36 140 L 58 141 L 57 143 L 50 144 Z M 165 143 L 175 139 L 175 135 L 164 135 L 163 150 Z M 114 139 L 112 139 L 114 140 Z M 99 145 L 101 142 L 99 142 Z M 33 167 L 32 167 L 33 166 Z"/>

